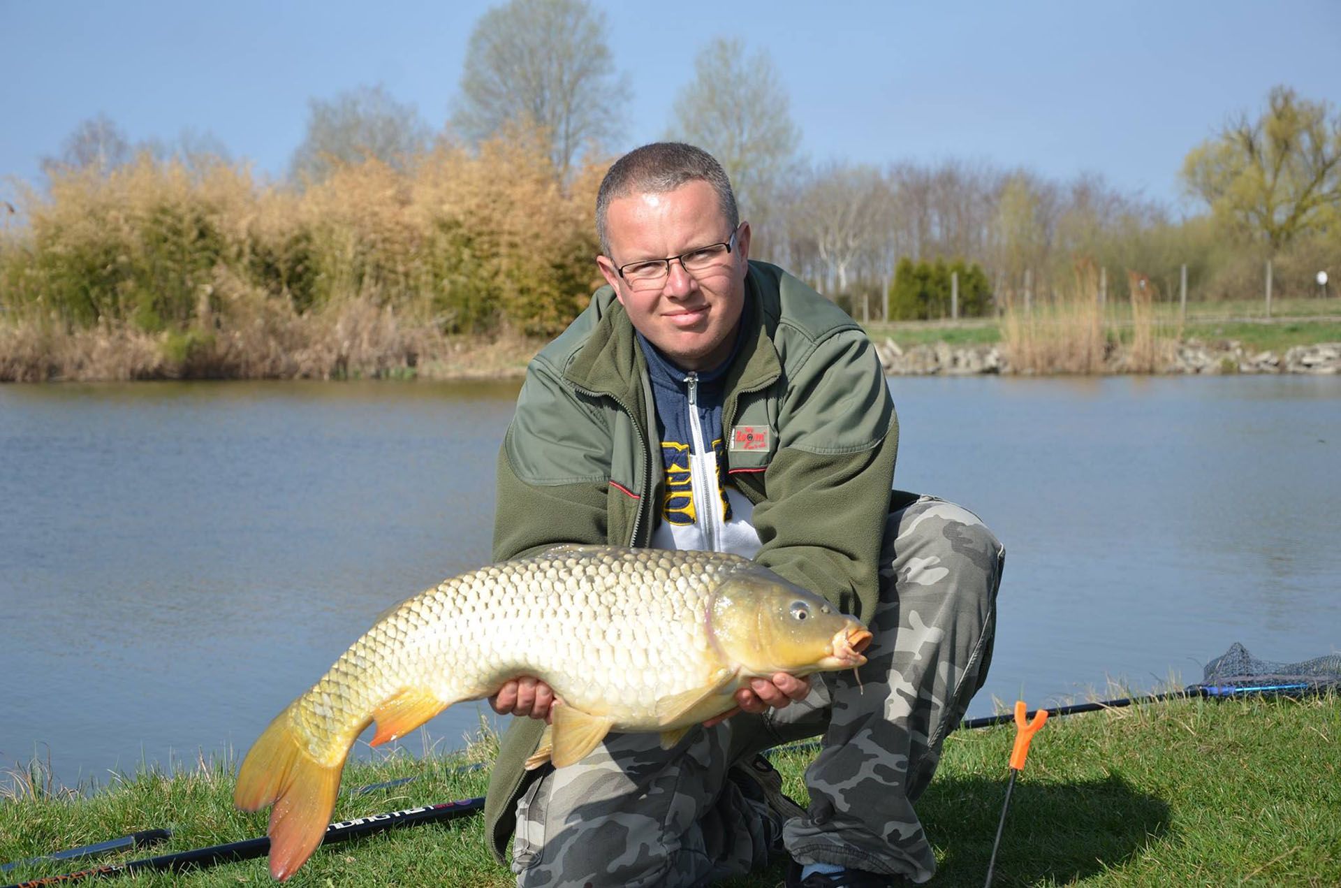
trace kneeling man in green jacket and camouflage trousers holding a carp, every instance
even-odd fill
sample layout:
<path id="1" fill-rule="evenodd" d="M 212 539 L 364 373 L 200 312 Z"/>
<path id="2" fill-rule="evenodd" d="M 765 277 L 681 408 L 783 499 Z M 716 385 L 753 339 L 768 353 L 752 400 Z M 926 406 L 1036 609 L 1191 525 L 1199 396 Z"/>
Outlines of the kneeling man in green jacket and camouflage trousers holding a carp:
<path id="1" fill-rule="evenodd" d="M 890 491 L 897 420 L 874 349 L 833 303 L 750 262 L 720 165 L 630 152 L 597 200 L 607 282 L 531 362 L 499 456 L 495 557 L 565 542 L 755 558 L 874 632 L 861 681 L 754 679 L 739 714 L 672 750 L 611 735 L 578 765 L 524 774 L 552 691 L 519 716 L 487 821 L 519 885 L 699 885 L 791 856 L 789 885 L 924 881 L 912 802 L 986 677 L 1003 553 L 970 512 Z M 862 687 L 864 685 L 864 687 Z M 810 809 L 758 755 L 823 734 Z"/>

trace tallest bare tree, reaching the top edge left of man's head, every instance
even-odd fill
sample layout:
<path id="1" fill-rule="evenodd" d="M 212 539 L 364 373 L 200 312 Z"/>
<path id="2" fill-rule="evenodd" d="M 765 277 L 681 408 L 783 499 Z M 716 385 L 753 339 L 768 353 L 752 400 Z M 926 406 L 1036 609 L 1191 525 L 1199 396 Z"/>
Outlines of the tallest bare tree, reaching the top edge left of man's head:
<path id="1" fill-rule="evenodd" d="M 567 178 L 579 149 L 614 134 L 628 98 L 603 13 L 585 0 L 508 0 L 471 34 L 452 122 L 476 144 L 510 126 L 539 126 Z"/>

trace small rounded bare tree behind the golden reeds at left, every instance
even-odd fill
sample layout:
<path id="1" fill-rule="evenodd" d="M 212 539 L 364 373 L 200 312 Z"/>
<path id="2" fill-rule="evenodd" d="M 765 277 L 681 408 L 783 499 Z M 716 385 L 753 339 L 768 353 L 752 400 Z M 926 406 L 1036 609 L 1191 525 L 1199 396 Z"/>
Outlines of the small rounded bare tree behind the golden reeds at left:
<path id="1" fill-rule="evenodd" d="M 378 86 L 341 93 L 330 102 L 311 99 L 307 135 L 290 164 L 295 180 L 319 182 L 341 164 L 377 158 L 406 169 L 428 148 L 429 130 L 418 109 L 397 102 Z"/>

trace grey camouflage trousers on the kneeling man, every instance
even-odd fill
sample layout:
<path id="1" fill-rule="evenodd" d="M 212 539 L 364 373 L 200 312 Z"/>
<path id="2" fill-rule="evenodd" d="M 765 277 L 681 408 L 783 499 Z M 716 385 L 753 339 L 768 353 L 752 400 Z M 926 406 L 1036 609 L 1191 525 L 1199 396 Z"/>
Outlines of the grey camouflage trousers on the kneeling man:
<path id="1" fill-rule="evenodd" d="M 611 734 L 548 769 L 518 802 L 518 885 L 704 885 L 767 865 L 779 838 L 801 863 L 931 879 L 913 802 L 987 676 L 1003 559 L 972 512 L 896 491 L 861 687 L 825 673 L 805 700 L 695 728 L 672 750 Z M 742 774 L 759 751 L 821 734 L 810 808 L 783 820 Z"/>

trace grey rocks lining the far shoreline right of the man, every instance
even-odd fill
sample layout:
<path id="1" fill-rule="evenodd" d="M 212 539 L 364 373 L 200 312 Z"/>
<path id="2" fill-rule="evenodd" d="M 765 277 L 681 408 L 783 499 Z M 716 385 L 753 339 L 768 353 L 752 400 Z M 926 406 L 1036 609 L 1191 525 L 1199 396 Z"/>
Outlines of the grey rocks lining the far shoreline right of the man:
<path id="1" fill-rule="evenodd" d="M 1031 374 L 1015 370 L 999 345 L 951 346 L 917 345 L 900 347 L 893 339 L 876 343 L 885 376 L 980 376 L 987 373 Z M 1101 373 L 1128 373 L 1125 350 L 1108 355 Z M 1180 342 L 1163 362 L 1161 374 L 1307 373 L 1341 374 L 1341 342 L 1298 345 L 1283 355 L 1274 351 L 1248 353 L 1238 341 L 1204 343 Z"/>

